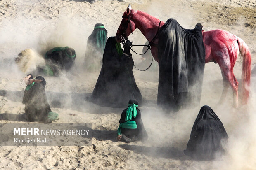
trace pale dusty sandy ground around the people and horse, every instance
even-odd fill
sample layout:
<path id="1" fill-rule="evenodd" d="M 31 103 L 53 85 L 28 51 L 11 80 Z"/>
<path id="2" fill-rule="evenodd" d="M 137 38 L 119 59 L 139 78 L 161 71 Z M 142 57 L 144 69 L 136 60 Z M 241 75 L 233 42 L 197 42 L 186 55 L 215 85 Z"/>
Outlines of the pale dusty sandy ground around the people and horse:
<path id="1" fill-rule="evenodd" d="M 256 75 L 251 79 L 249 104 L 235 109 L 230 88 L 226 102 L 216 105 L 223 88 L 220 68 L 214 63 L 205 66 L 200 106 L 211 106 L 229 135 L 226 155 L 214 161 L 183 156 L 200 107 L 162 113 L 156 105 L 157 71 L 133 69 L 145 101 L 139 105 L 149 134 L 145 143 L 116 142 L 124 108 L 100 107 L 84 100 L 92 93 L 99 74 L 87 73 L 81 65 L 87 38 L 99 22 L 104 23 L 109 37 L 114 36 L 129 3 L 161 21 L 175 18 L 184 28 L 202 23 L 204 30 L 227 30 L 247 43 L 252 68 L 256 64 L 255 0 L 0 0 L 0 113 L 7 115 L 0 123 L 27 123 L 18 119 L 24 114 L 21 99 L 26 74 L 17 68 L 14 57 L 26 48 L 41 53 L 51 47 L 69 46 L 77 54 L 72 70 L 76 76 L 63 73 L 57 78 L 45 77 L 47 98 L 52 110 L 59 113 L 54 123 L 92 123 L 94 130 L 93 146 L 89 147 L 0 147 L 0 169 L 256 170 Z M 139 30 L 129 39 L 135 44 L 146 41 Z M 140 62 L 140 56 L 133 55 L 133 59 L 135 64 Z M 238 81 L 241 65 L 238 59 L 234 68 Z"/>

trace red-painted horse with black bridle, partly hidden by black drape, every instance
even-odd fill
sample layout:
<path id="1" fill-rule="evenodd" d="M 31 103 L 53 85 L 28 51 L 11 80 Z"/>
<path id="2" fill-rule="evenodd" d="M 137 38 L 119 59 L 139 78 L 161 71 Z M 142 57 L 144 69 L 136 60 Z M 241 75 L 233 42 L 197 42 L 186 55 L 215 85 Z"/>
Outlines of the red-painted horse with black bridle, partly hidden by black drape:
<path id="1" fill-rule="evenodd" d="M 149 14 L 131 9 L 129 5 L 123 13 L 123 19 L 116 32 L 116 40 L 122 42 L 130 33 L 138 28 L 149 42 L 152 42 L 151 53 L 154 59 L 157 58 L 157 32 L 164 22 Z M 156 36 L 156 37 L 155 37 Z M 219 103 L 226 97 L 229 84 L 233 89 L 235 107 L 238 106 L 238 82 L 233 73 L 233 68 L 240 55 L 242 64 L 242 104 L 246 104 L 249 99 L 249 86 L 251 78 L 251 53 L 245 42 L 225 30 L 211 30 L 203 32 L 203 41 L 205 47 L 205 63 L 218 63 L 223 77 L 223 92 Z"/>

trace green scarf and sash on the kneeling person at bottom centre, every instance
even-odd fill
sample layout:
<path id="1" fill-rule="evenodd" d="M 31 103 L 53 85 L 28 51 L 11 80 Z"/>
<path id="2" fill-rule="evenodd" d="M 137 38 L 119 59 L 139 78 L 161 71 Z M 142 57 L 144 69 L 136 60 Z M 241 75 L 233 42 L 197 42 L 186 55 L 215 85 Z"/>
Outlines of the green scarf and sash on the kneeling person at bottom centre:
<path id="1" fill-rule="evenodd" d="M 136 121 L 131 121 L 132 117 L 137 116 L 137 109 L 138 105 L 129 104 L 128 108 L 126 110 L 126 119 L 124 123 L 120 123 L 118 129 L 117 129 L 117 135 L 121 135 L 121 128 L 126 128 L 126 129 L 137 129 L 137 124 Z"/>

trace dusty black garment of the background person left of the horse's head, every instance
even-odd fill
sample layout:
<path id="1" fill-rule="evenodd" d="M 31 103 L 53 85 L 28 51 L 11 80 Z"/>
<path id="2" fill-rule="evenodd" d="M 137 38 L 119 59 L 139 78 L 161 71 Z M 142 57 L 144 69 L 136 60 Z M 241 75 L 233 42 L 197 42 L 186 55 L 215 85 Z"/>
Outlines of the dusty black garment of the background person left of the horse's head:
<path id="1" fill-rule="evenodd" d="M 94 27 L 97 26 L 104 26 L 102 23 L 95 24 Z M 105 28 L 97 28 L 94 29 L 91 35 L 87 39 L 86 51 L 85 51 L 85 59 L 84 59 L 84 66 L 85 69 L 88 71 L 96 71 L 100 70 L 102 66 L 102 49 L 97 47 L 97 32 L 98 31 L 105 31 L 106 33 L 106 40 L 107 40 L 107 30 Z"/>

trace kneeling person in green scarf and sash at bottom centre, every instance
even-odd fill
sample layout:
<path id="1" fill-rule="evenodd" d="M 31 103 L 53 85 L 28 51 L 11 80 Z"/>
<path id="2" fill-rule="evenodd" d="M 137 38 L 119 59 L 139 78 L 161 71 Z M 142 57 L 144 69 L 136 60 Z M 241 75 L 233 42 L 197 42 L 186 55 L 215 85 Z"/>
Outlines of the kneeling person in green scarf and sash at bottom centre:
<path id="1" fill-rule="evenodd" d="M 128 107 L 123 110 L 119 120 L 117 140 L 133 142 L 135 140 L 146 140 L 147 132 L 143 126 L 138 101 L 131 99 Z"/>

